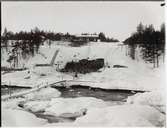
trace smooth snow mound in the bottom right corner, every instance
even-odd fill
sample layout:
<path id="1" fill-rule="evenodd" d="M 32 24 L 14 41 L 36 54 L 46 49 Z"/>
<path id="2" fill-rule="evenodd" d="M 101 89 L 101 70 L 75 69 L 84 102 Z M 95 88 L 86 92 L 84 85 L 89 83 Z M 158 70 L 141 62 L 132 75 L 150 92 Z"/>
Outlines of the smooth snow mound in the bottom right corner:
<path id="1" fill-rule="evenodd" d="M 102 116 L 103 115 L 103 116 Z M 89 126 L 163 126 L 165 115 L 144 105 L 121 105 L 90 109 L 86 116 L 78 118 L 76 125 Z"/>

